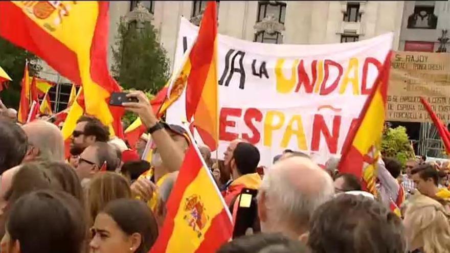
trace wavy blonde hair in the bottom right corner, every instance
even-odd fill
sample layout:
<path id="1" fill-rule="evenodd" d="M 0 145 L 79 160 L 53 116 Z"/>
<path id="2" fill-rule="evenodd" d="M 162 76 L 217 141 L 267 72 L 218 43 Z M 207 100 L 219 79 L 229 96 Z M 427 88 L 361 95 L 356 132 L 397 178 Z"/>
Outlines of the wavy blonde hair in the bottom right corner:
<path id="1" fill-rule="evenodd" d="M 424 195 L 413 195 L 405 217 L 412 222 L 407 227 L 410 242 L 422 242 L 426 253 L 450 252 L 450 216 L 442 204 Z"/>

